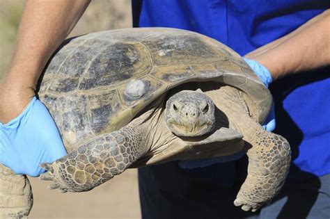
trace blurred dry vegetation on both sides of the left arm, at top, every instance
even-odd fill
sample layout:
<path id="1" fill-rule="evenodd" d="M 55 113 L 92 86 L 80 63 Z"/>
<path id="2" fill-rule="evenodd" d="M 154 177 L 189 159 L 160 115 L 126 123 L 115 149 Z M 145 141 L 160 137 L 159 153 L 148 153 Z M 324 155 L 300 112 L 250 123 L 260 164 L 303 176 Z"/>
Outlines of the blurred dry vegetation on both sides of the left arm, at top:
<path id="1" fill-rule="evenodd" d="M 0 78 L 8 65 L 23 6 L 22 0 L 0 0 Z M 97 0 L 91 2 L 70 36 L 131 26 L 130 0 Z"/>

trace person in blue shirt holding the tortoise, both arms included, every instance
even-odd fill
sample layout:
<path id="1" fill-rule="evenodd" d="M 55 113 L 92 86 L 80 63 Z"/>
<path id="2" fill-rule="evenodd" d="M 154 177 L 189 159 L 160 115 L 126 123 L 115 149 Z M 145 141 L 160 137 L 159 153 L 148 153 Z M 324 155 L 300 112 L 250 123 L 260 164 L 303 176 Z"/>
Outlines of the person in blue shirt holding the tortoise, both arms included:
<path id="1" fill-rule="evenodd" d="M 39 163 L 65 154 L 56 124 L 49 122 L 45 106 L 34 96 L 47 60 L 88 3 L 26 1 L 15 50 L 0 84 L 0 163 L 17 173 L 40 175 Z M 246 174 L 246 157 L 211 162 L 203 168 L 198 168 L 201 161 L 141 168 L 143 218 L 329 218 L 330 128 L 326 119 L 330 107 L 326 103 L 330 80 L 324 68 L 330 63 L 329 3 L 166 0 L 132 4 L 134 26 L 203 33 L 255 60 L 251 65 L 269 70 L 274 80 L 276 132 L 289 140 L 293 152 L 283 192 L 257 213 L 244 213 L 232 203 Z M 323 68 L 307 72 L 319 67 Z M 18 161 L 26 165 L 22 168 Z"/>

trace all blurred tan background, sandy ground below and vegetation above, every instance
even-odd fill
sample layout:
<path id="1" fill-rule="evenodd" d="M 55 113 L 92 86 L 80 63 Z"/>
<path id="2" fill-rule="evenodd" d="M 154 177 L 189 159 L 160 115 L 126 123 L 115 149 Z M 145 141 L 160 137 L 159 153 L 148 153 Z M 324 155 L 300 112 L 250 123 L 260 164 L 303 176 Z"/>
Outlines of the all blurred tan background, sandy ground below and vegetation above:
<path id="1" fill-rule="evenodd" d="M 54 1 L 54 0 L 52 0 Z M 70 36 L 132 27 L 130 0 L 95 0 Z M 15 42 L 22 0 L 0 0 L 0 78 Z M 59 193 L 47 182 L 30 178 L 33 209 L 30 218 L 141 218 L 136 170 L 126 170 L 87 193 Z"/>

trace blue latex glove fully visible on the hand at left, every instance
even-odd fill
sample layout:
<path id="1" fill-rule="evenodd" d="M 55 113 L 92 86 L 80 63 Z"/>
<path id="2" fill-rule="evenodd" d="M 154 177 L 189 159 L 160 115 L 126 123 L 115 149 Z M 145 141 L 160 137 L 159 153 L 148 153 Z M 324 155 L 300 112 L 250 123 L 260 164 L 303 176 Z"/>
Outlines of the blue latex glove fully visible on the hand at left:
<path id="1" fill-rule="evenodd" d="M 40 163 L 65 154 L 52 116 L 36 97 L 18 117 L 7 124 L 0 122 L 0 163 L 17 174 L 38 177 L 45 172 Z"/>

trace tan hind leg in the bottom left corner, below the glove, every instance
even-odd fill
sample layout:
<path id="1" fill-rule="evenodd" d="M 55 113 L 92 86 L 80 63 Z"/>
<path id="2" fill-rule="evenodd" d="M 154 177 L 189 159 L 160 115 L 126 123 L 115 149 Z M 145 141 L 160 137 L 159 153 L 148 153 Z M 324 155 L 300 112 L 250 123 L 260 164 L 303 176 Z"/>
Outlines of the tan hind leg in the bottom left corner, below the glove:
<path id="1" fill-rule="evenodd" d="M 0 218 L 27 218 L 32 204 L 29 179 L 0 164 Z"/>

